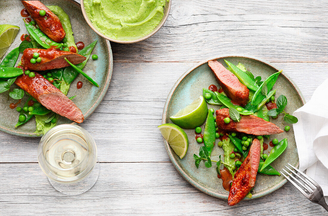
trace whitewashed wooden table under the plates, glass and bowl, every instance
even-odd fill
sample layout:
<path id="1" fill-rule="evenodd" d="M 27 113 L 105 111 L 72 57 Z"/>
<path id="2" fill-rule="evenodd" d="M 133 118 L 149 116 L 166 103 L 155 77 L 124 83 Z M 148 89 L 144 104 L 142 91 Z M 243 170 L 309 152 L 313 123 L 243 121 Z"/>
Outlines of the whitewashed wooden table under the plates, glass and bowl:
<path id="1" fill-rule="evenodd" d="M 230 207 L 185 181 L 157 129 L 175 81 L 196 62 L 249 54 L 284 69 L 308 101 L 328 78 L 326 0 L 172 0 L 146 41 L 112 43 L 110 88 L 81 126 L 98 147 L 101 173 L 79 196 L 49 184 L 37 163 L 40 138 L 0 132 L 0 215 L 323 215 L 290 183 Z M 327 200 L 327 198 L 326 198 Z"/>

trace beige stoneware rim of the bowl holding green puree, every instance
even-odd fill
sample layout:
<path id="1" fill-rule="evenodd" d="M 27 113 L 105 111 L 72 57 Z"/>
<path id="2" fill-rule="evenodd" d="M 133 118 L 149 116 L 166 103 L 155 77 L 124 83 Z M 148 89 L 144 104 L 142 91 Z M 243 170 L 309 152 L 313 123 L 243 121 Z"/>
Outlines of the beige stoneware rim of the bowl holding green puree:
<path id="1" fill-rule="evenodd" d="M 81 0 L 81 9 L 82 9 L 82 13 L 83 13 L 83 16 L 85 18 L 85 20 L 87 21 L 88 25 L 97 33 L 99 34 L 101 37 L 107 39 L 107 40 L 110 40 L 110 41 L 113 41 L 115 43 L 119 43 L 119 44 L 133 44 L 133 43 L 137 43 L 137 42 L 140 42 L 140 41 L 143 41 L 143 40 L 146 40 L 147 38 L 153 36 L 160 28 L 162 28 L 162 26 L 164 25 L 167 17 L 169 16 L 169 13 L 170 13 L 170 9 L 171 9 L 171 0 L 170 1 L 167 1 L 166 4 L 165 4 L 165 7 L 164 7 L 164 16 L 162 18 L 162 20 L 160 21 L 160 23 L 157 25 L 157 27 L 152 31 L 150 32 L 149 34 L 141 37 L 141 38 L 138 38 L 138 39 L 135 39 L 135 40 L 129 40 L 129 41 L 124 41 L 124 40 L 116 40 L 116 39 L 113 39 L 113 38 L 110 38 L 106 35 L 104 35 L 103 33 L 101 33 L 97 28 L 95 28 L 91 22 L 91 20 L 89 19 L 89 17 L 87 16 L 86 12 L 85 12 L 85 9 L 84 9 L 84 2 L 83 0 Z"/>

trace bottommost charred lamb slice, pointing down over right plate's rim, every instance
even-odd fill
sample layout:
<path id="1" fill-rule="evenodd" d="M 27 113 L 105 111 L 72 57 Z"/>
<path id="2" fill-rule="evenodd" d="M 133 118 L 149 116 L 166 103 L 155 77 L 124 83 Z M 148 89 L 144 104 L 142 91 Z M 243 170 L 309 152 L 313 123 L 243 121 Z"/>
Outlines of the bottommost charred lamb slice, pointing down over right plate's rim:
<path id="1" fill-rule="evenodd" d="M 239 203 L 254 187 L 257 169 L 260 163 L 260 151 L 260 141 L 254 139 L 246 159 L 235 173 L 228 197 L 229 206 Z"/>

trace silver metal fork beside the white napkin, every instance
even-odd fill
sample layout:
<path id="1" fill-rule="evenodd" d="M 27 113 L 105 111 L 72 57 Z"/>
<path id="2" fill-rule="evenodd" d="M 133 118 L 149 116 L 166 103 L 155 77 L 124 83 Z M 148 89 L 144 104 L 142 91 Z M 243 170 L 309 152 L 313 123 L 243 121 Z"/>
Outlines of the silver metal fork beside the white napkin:
<path id="1" fill-rule="evenodd" d="M 286 176 L 284 173 L 281 172 L 285 178 L 290 181 L 306 198 L 308 198 L 311 202 L 319 204 L 320 206 L 324 207 L 326 211 L 328 211 L 328 206 L 326 204 L 325 198 L 323 196 L 323 192 L 321 187 L 318 185 L 317 182 L 313 181 L 309 176 L 305 175 L 303 172 L 298 170 L 296 167 L 293 167 L 292 165 L 288 164 L 290 167 L 292 167 L 294 170 L 296 170 L 298 173 L 300 173 L 302 176 L 304 176 L 308 181 L 301 178 L 295 171 L 290 169 L 289 167 L 285 166 L 289 171 L 291 171 L 295 176 L 297 176 L 303 183 L 302 184 L 297 178 L 295 178 L 293 175 L 291 175 L 289 172 L 287 172 L 285 169 L 282 169 L 289 175 L 292 179 L 294 179 L 298 184 L 300 184 L 304 189 L 309 193 L 307 194 L 301 187 L 299 187 L 293 180 L 291 180 L 288 176 Z"/>

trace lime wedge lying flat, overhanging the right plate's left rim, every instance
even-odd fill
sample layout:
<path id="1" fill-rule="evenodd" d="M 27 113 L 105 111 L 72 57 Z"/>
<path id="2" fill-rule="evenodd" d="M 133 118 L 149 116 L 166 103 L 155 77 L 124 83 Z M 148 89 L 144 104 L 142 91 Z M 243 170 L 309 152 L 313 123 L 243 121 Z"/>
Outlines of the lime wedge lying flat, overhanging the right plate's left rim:
<path id="1" fill-rule="evenodd" d="M 189 141 L 186 132 L 174 124 L 163 124 L 157 127 L 174 152 L 182 159 L 188 150 Z"/>

